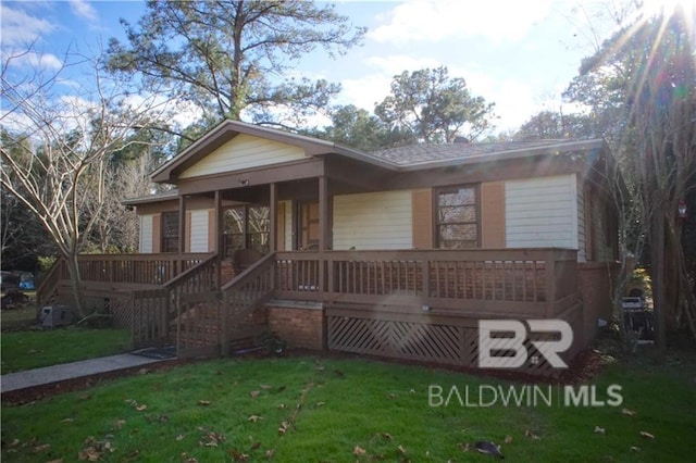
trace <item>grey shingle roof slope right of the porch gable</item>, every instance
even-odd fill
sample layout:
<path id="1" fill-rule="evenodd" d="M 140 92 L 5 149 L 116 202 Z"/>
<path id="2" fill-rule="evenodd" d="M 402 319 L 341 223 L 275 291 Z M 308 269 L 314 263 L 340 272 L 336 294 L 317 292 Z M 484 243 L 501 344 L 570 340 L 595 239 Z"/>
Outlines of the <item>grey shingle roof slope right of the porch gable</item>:
<path id="1" fill-rule="evenodd" d="M 486 161 L 486 158 L 514 158 L 519 154 L 538 154 L 550 152 L 567 152 L 586 148 L 598 140 L 533 140 L 533 141 L 502 141 L 490 143 L 449 143 L 449 145 L 409 145 L 399 148 L 373 151 L 370 154 L 384 159 L 400 167 L 418 166 L 422 164 L 439 164 L 452 161 Z"/>

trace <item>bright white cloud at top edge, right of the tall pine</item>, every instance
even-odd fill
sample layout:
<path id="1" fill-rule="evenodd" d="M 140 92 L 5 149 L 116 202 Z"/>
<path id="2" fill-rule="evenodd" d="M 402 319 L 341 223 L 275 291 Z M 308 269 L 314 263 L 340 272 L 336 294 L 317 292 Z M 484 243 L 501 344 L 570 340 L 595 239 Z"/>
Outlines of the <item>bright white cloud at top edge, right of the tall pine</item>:
<path id="1" fill-rule="evenodd" d="M 550 12 L 551 0 L 412 0 L 398 4 L 368 33 L 377 42 L 483 37 L 517 40 Z"/>

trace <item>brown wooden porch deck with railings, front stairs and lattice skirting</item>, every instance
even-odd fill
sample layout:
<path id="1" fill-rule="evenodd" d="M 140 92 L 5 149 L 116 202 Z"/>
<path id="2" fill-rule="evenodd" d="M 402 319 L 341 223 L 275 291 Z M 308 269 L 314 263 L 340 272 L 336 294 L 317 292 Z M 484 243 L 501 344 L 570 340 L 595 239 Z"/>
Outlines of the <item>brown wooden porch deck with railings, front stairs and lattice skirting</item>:
<path id="1" fill-rule="evenodd" d="M 221 263 L 215 254 L 79 261 L 86 292 L 127 313 L 136 347 L 227 353 L 231 333 L 271 298 L 323 303 L 330 350 L 464 366 L 476 356 L 480 318 L 582 324 L 573 250 L 275 252 L 231 281 L 221 281 Z M 59 262 L 39 297 L 69 284 Z"/>

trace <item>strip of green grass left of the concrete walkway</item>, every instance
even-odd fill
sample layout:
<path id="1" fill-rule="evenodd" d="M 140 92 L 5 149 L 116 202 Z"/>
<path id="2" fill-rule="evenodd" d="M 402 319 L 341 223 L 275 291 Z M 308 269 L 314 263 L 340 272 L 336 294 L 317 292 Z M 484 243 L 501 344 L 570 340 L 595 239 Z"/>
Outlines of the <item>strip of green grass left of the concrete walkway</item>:
<path id="1" fill-rule="evenodd" d="M 124 329 L 57 328 L 3 333 L 2 374 L 125 352 Z"/>

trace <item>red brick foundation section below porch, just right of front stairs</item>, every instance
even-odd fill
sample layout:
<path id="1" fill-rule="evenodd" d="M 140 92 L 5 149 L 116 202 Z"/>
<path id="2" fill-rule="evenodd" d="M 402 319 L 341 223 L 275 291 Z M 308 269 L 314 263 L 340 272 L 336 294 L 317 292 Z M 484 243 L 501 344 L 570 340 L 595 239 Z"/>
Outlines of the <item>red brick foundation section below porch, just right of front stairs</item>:
<path id="1" fill-rule="evenodd" d="M 269 327 L 289 348 L 324 350 L 324 308 L 321 303 L 271 301 Z"/>

